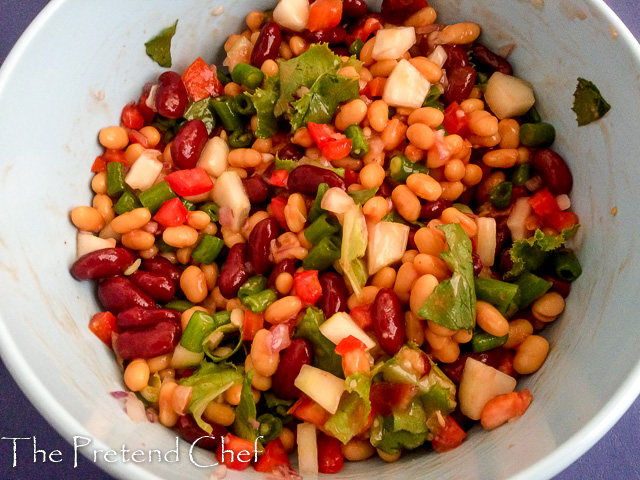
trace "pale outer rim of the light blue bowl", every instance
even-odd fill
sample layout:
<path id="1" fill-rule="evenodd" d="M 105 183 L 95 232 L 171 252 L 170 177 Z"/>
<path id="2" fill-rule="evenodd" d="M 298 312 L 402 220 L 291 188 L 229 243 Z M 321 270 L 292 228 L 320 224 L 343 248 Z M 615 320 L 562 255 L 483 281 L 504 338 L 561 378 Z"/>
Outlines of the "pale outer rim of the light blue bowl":
<path id="1" fill-rule="evenodd" d="M 68 1 L 51 0 L 24 30 L 0 68 L 0 95 L 2 95 L 9 81 L 12 70 L 18 64 L 34 37 L 53 14 Z M 618 37 L 621 37 L 624 44 L 629 47 L 632 57 L 635 57 L 636 63 L 640 65 L 640 43 L 638 43 L 638 39 L 634 37 L 611 7 L 605 3 L 605 0 L 583 1 L 596 9 L 615 28 Z M 25 356 L 13 341 L 2 312 L 0 312 L 0 358 L 2 358 L 7 370 L 29 401 L 67 442 L 70 443 L 70 438 L 74 435 L 88 435 L 91 436 L 96 447 L 109 449 L 108 445 L 101 439 L 94 438 L 88 429 L 51 395 L 35 371 L 27 366 Z M 559 474 L 604 437 L 631 407 L 638 396 L 640 396 L 640 361 L 631 369 L 627 379 L 620 384 L 615 394 L 593 418 L 553 452 L 511 477 L 512 480 L 548 479 Z M 82 454 L 88 460 L 92 460 L 88 452 L 83 450 Z M 135 476 L 135 478 L 145 480 L 163 480 L 156 474 L 136 464 L 101 462 L 98 467 L 116 478 Z"/>

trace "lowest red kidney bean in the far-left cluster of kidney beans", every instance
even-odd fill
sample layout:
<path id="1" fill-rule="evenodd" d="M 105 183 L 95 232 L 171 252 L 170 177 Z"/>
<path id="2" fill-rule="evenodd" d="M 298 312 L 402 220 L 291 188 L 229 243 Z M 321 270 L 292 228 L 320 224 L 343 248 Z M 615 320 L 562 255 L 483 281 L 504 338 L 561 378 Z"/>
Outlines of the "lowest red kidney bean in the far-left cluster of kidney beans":
<path id="1" fill-rule="evenodd" d="M 142 330 L 125 330 L 118 335 L 113 349 L 125 360 L 153 358 L 171 353 L 180 341 L 180 334 L 179 324 L 162 321 Z"/>

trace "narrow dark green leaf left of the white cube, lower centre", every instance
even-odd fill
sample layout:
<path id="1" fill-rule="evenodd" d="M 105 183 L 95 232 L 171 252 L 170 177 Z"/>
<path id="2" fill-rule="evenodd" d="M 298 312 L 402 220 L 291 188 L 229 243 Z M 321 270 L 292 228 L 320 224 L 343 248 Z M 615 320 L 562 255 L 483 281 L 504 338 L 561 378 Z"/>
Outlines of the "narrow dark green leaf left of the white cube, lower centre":
<path id="1" fill-rule="evenodd" d="M 322 310 L 308 307 L 300 321 L 294 338 L 304 338 L 313 348 L 313 366 L 332 373 L 336 377 L 344 378 L 342 371 L 342 357 L 336 353 L 336 346 L 320 332 L 320 325 L 324 323 Z"/>

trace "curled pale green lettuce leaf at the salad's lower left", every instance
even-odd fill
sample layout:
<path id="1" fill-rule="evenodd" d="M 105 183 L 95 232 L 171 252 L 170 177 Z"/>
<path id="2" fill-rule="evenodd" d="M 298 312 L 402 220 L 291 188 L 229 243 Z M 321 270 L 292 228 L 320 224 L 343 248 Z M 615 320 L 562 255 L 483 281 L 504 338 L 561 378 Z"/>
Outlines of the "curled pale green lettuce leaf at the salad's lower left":
<path id="1" fill-rule="evenodd" d="M 193 395 L 189 403 L 189 411 L 196 423 L 205 432 L 213 432 L 213 428 L 202 419 L 202 414 L 211 400 L 224 393 L 233 384 L 242 381 L 242 370 L 226 363 L 203 361 L 200 368 L 190 377 L 180 380 L 180 385 L 193 387 Z"/>

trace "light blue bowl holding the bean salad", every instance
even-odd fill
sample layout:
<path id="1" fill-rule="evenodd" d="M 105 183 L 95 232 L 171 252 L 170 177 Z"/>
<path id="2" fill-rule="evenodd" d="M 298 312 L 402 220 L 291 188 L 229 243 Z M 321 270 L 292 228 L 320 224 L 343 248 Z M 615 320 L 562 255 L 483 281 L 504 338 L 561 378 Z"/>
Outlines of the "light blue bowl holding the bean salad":
<path id="1" fill-rule="evenodd" d="M 584 274 L 566 313 L 544 332 L 552 345 L 546 363 L 520 383 L 534 401 L 519 422 L 492 432 L 475 428 L 450 453 L 414 454 L 389 465 L 352 463 L 331 478 L 363 479 L 374 469 L 378 477 L 398 479 L 548 478 L 604 435 L 640 390 L 640 47 L 600 0 L 536 6 L 542 3 L 433 0 L 445 22 L 478 22 L 490 46 L 517 45 L 515 71 L 534 84 L 541 113 L 558 131 L 555 148 L 573 171 Z M 68 212 L 90 201 L 96 134 L 116 124 L 122 106 L 162 71 L 143 47 L 160 29 L 179 19 L 172 53 L 173 68 L 182 71 L 196 56 L 220 61 L 222 43 L 246 13 L 272 4 L 53 0 L 2 69 L 2 357 L 63 437 L 92 439 L 82 451 L 175 448 L 173 432 L 131 423 L 109 395 L 122 389 L 122 377 L 111 352 L 87 329 L 98 311 L 93 287 L 67 273 L 75 251 Z M 212 14 L 217 6 L 223 15 Z M 571 111 L 577 77 L 594 81 L 613 106 L 603 120 L 581 128 Z M 210 469 L 189 460 L 188 446 L 180 448 L 179 465 L 101 466 L 120 478 L 209 478 Z"/>

